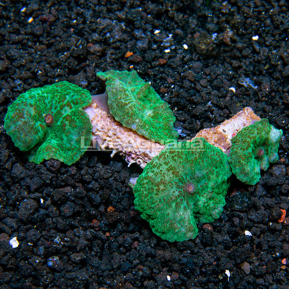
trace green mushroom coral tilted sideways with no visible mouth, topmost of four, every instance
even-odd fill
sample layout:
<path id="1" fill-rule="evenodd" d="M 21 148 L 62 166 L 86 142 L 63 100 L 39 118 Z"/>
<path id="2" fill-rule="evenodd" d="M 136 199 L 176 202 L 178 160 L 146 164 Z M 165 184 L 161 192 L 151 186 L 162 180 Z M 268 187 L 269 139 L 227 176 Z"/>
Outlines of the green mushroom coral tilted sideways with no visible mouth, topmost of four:
<path id="1" fill-rule="evenodd" d="M 110 70 L 96 75 L 105 81 L 109 111 L 122 125 L 160 143 L 177 139 L 176 117 L 169 104 L 135 71 Z"/>

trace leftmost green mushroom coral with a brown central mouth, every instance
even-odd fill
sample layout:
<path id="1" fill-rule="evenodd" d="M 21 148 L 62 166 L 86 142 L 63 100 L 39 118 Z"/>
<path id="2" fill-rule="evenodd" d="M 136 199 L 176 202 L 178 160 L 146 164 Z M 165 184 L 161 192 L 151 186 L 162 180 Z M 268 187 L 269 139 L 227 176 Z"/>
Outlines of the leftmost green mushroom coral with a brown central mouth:
<path id="1" fill-rule="evenodd" d="M 66 81 L 33 88 L 8 107 L 4 126 L 30 162 L 56 159 L 71 165 L 92 139 L 90 119 L 81 109 L 90 103 L 87 90 Z"/>

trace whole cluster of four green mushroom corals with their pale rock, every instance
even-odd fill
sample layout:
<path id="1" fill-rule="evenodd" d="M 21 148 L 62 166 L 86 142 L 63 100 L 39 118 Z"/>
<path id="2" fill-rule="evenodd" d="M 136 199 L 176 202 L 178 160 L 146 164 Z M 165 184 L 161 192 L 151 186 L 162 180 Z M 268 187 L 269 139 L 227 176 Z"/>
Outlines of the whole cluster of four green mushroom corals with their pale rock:
<path id="1" fill-rule="evenodd" d="M 7 133 L 30 162 L 79 160 L 91 139 L 144 168 L 131 180 L 135 208 L 168 241 L 194 239 L 198 222 L 219 218 L 232 173 L 255 185 L 278 160 L 282 130 L 250 107 L 189 141 L 179 141 L 168 103 L 135 71 L 98 72 L 106 91 L 90 95 L 66 81 L 21 94 L 8 108 Z M 67 146 L 69 144 L 69 146 Z"/>

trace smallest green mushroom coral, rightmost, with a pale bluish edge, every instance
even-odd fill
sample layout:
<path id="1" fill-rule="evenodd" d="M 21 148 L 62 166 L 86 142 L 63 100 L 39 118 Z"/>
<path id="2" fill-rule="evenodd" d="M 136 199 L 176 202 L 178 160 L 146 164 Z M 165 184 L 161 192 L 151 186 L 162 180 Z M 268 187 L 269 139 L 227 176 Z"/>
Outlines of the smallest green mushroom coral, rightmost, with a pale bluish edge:
<path id="1" fill-rule="evenodd" d="M 278 161 L 282 130 L 270 125 L 268 119 L 242 128 L 232 138 L 229 162 L 233 174 L 247 185 L 255 185 L 270 163 Z"/>

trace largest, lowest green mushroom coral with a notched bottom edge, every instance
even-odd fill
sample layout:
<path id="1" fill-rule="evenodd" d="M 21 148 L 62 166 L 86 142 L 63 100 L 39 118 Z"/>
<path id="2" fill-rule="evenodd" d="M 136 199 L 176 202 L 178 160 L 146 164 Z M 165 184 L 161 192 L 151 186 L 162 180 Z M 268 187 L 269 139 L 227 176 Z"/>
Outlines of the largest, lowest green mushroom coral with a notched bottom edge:
<path id="1" fill-rule="evenodd" d="M 178 146 L 153 158 L 133 189 L 141 217 L 170 242 L 194 239 L 198 222 L 220 217 L 231 176 L 227 155 L 204 138 Z"/>

